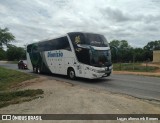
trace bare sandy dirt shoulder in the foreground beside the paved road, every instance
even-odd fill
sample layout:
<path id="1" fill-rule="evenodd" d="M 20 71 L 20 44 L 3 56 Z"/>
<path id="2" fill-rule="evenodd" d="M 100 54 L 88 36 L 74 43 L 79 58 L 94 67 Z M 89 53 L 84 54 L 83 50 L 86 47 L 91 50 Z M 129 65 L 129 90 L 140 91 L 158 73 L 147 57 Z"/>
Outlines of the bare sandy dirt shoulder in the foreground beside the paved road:
<path id="1" fill-rule="evenodd" d="M 15 89 L 43 89 L 41 98 L 10 105 L 0 113 L 17 114 L 160 114 L 160 104 L 103 90 L 72 85 L 40 77 L 25 81 Z"/>

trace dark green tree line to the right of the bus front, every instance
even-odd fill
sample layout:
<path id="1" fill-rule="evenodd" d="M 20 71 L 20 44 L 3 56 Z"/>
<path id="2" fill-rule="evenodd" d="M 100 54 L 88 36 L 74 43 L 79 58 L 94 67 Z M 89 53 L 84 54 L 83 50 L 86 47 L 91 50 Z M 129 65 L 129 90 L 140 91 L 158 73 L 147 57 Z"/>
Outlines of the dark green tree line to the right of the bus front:
<path id="1" fill-rule="evenodd" d="M 151 62 L 153 51 L 160 50 L 160 40 L 148 42 L 143 48 L 134 48 L 126 40 L 112 40 L 109 45 L 113 63 Z"/>

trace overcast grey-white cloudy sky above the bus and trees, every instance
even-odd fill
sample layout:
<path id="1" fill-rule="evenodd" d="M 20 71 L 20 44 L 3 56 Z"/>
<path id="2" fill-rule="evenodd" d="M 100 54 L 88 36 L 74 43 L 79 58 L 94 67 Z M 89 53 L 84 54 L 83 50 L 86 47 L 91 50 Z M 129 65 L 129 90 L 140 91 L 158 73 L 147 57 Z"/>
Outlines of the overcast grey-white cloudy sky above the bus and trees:
<path id="1" fill-rule="evenodd" d="M 16 46 L 84 31 L 143 47 L 160 40 L 160 0 L 0 0 L 5 27 Z"/>

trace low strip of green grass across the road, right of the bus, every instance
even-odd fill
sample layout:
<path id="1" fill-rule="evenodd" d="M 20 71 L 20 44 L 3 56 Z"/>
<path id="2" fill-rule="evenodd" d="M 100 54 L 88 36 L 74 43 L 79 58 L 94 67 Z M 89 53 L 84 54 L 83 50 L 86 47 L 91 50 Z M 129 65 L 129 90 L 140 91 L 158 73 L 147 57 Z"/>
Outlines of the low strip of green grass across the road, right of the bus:
<path id="1" fill-rule="evenodd" d="M 154 72 L 158 69 L 158 67 L 153 66 L 142 66 L 140 63 L 113 64 L 113 70 L 115 71 Z"/>

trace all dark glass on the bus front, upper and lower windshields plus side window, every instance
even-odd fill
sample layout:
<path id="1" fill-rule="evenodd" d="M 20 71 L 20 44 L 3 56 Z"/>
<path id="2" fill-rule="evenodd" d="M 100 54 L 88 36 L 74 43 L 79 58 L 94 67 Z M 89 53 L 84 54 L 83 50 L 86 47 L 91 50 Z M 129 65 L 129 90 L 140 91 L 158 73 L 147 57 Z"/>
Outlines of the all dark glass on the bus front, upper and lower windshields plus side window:
<path id="1" fill-rule="evenodd" d="M 103 35 L 94 33 L 68 33 L 79 62 L 102 67 L 111 64 L 110 50 L 95 50 L 93 47 L 109 47 Z"/>

